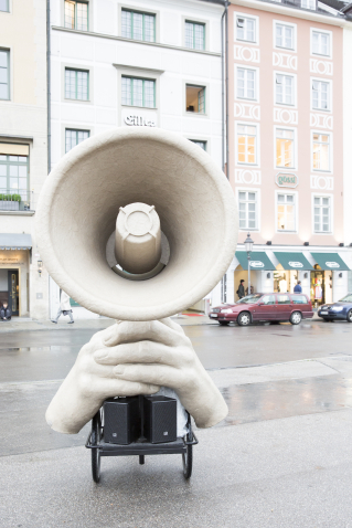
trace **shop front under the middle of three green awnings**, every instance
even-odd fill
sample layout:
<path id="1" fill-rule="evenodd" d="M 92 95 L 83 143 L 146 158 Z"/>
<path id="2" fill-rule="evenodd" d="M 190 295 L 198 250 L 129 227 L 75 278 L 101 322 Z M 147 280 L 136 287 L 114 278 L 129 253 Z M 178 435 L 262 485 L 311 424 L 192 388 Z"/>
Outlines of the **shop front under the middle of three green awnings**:
<path id="1" fill-rule="evenodd" d="M 274 252 L 279 264 L 274 272 L 274 292 L 294 293 L 298 281 L 301 282 L 302 292 L 309 293 L 309 272 L 313 266 L 302 253 Z"/>

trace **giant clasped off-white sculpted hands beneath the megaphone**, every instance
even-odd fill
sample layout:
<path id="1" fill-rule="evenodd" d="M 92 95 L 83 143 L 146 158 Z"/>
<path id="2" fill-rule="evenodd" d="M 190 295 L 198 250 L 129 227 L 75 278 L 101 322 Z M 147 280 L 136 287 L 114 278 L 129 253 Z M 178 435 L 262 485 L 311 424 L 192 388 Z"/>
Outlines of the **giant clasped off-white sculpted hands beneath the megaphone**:
<path id="1" fill-rule="evenodd" d="M 170 318 L 119 321 L 93 336 L 46 411 L 61 433 L 78 433 L 110 397 L 173 389 L 199 427 L 227 415 L 227 405 L 190 339 Z"/>

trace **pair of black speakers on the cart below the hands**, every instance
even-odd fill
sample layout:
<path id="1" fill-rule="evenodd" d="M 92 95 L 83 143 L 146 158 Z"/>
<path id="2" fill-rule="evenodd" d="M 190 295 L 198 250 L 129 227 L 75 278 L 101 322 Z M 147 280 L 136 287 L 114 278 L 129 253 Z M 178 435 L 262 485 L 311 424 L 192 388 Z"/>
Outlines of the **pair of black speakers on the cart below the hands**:
<path id="1" fill-rule="evenodd" d="M 109 398 L 104 402 L 104 441 L 127 445 L 177 440 L 177 400 L 161 395 Z"/>

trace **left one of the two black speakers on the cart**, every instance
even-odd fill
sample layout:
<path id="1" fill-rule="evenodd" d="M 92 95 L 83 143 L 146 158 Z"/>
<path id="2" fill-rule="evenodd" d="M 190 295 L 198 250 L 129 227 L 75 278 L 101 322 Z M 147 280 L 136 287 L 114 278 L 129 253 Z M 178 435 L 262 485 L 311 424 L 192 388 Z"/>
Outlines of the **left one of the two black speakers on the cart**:
<path id="1" fill-rule="evenodd" d="M 140 436 L 138 397 L 109 398 L 104 402 L 104 441 L 130 444 Z"/>

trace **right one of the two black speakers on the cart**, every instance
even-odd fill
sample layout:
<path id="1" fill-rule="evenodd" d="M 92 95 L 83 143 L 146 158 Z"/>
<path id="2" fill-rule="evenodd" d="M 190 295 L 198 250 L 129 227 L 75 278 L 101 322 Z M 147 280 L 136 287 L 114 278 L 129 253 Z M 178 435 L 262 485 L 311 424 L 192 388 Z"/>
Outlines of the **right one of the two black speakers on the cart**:
<path id="1" fill-rule="evenodd" d="M 143 435 L 147 442 L 173 442 L 178 437 L 177 400 L 167 397 L 143 398 Z"/>

